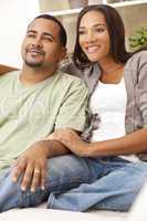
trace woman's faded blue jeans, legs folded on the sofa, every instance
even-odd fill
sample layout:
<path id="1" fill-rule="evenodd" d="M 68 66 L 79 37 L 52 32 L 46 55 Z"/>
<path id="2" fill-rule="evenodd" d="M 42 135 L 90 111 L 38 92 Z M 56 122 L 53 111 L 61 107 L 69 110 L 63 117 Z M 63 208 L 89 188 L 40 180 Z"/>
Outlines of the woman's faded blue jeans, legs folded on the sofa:
<path id="1" fill-rule="evenodd" d="M 147 162 L 128 162 L 120 158 L 87 159 L 97 179 L 66 192 L 52 192 L 48 208 L 86 211 L 105 209 L 128 211 L 146 177 Z"/>

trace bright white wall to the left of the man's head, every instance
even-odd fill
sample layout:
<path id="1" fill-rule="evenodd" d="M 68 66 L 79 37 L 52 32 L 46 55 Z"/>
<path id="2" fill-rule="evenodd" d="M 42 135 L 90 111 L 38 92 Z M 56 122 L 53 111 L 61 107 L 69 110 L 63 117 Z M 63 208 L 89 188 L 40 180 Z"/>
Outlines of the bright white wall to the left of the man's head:
<path id="1" fill-rule="evenodd" d="M 38 0 L 0 0 L 0 64 L 21 67 L 21 42 L 38 13 Z"/>

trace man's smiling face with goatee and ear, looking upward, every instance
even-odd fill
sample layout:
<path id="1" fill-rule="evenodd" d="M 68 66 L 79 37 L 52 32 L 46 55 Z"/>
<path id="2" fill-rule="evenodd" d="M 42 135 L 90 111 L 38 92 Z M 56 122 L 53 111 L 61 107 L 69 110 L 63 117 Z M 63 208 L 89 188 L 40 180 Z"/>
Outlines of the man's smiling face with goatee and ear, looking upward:
<path id="1" fill-rule="evenodd" d="M 60 42 L 60 27 L 52 20 L 35 19 L 29 25 L 22 43 L 22 59 L 31 67 L 57 66 L 65 54 Z"/>

